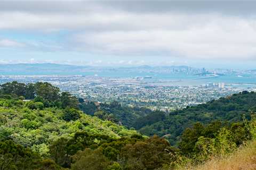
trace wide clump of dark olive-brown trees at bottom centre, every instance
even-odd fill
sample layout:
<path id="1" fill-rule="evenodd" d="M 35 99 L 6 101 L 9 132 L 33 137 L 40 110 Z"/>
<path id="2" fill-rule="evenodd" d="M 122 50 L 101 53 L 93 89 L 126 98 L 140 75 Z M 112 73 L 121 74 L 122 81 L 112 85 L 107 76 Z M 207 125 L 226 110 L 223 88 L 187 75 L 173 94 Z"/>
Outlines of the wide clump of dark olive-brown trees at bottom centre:
<path id="1" fill-rule="evenodd" d="M 71 169 L 157 169 L 174 161 L 177 149 L 163 138 L 139 138 L 105 141 L 95 149 L 87 146 L 72 156 Z"/>

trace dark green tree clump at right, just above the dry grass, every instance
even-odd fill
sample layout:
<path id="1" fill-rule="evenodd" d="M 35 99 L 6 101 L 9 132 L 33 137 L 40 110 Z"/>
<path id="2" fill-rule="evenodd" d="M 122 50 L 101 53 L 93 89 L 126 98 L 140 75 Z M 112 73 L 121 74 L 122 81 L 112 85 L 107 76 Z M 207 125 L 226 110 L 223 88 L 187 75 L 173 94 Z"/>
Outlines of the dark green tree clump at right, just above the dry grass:
<path id="1" fill-rule="evenodd" d="M 220 133 L 222 133 L 223 130 L 228 131 L 228 142 L 234 143 L 236 147 L 250 139 L 250 134 L 243 123 L 224 125 L 218 121 L 207 124 L 207 126 L 203 126 L 201 123 L 196 123 L 193 128 L 187 128 L 182 133 L 179 148 L 182 154 L 186 156 L 199 154 L 201 150 L 198 149 L 196 145 L 198 145 L 197 142 L 199 139 L 202 139 L 202 137 L 208 141 L 209 147 L 217 147 L 217 145 L 219 145 L 218 142 L 221 140 Z"/>

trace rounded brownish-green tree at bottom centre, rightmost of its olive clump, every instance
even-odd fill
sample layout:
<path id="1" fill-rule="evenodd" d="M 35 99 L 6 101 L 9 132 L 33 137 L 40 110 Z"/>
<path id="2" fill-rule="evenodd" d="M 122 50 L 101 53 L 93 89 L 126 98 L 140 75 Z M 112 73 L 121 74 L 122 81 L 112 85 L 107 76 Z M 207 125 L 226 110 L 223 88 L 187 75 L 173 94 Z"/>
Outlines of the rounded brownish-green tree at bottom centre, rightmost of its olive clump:
<path id="1" fill-rule="evenodd" d="M 172 154 L 175 151 L 165 139 L 154 136 L 134 145 L 126 145 L 121 151 L 121 157 L 124 169 L 157 169 L 173 162 Z"/>

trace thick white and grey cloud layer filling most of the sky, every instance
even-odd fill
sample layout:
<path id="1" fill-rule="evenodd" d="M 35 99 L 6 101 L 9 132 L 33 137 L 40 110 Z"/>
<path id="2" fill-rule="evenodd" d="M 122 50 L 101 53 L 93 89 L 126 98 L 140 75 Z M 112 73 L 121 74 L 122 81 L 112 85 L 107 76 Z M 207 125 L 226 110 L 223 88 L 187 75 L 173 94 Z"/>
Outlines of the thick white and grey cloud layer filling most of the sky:
<path id="1" fill-rule="evenodd" d="M 231 1 L 1 2 L 0 31 L 34 32 L 50 38 L 24 42 L 1 36 L 0 47 L 102 56 L 254 60 L 253 5 Z M 49 44 L 51 36 L 63 31 L 67 33 Z"/>

